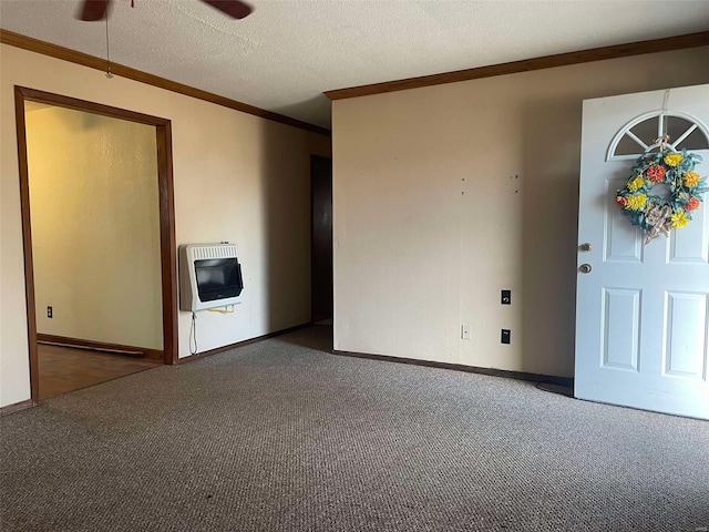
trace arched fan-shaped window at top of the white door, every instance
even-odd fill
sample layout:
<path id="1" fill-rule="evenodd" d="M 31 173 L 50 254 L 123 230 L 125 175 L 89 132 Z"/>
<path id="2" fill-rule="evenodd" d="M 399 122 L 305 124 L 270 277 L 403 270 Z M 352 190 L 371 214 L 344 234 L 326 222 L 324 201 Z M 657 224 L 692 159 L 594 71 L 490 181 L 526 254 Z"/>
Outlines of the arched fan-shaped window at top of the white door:
<path id="1" fill-rule="evenodd" d="M 698 119 L 672 111 L 643 114 L 620 129 L 608 147 L 606 161 L 635 160 L 657 151 L 664 135 L 675 151 L 709 150 L 709 131 Z"/>

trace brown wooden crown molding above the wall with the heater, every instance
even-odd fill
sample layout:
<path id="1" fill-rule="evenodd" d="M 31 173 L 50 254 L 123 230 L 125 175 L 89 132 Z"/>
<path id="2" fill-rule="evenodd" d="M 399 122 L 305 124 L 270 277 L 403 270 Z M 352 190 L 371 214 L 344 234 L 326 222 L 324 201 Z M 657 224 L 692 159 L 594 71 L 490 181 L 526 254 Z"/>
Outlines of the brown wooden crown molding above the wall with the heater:
<path id="1" fill-rule="evenodd" d="M 31 37 L 22 35 L 20 33 L 14 33 L 12 31 L 0 29 L 0 43 L 8 44 L 16 48 L 21 48 L 23 50 L 29 50 L 31 52 L 41 53 L 42 55 L 48 55 L 50 58 L 61 59 L 63 61 L 69 61 L 70 63 L 81 64 L 82 66 L 89 66 L 90 69 L 96 69 L 101 71 L 106 70 L 105 59 L 96 58 L 94 55 L 89 55 L 88 53 L 78 52 L 69 48 L 60 47 L 58 44 L 52 44 L 51 42 L 41 41 L 39 39 L 33 39 Z M 291 119 L 282 114 L 274 113 L 271 111 L 266 111 L 264 109 L 255 108 L 254 105 L 248 105 L 246 103 L 238 102 L 236 100 L 230 100 L 228 98 L 219 96 L 217 94 L 203 91 L 202 89 L 196 89 L 194 86 L 185 85 L 184 83 L 178 83 L 176 81 L 171 81 L 154 74 L 148 74 L 147 72 L 132 69 L 123 64 L 112 62 L 111 73 L 113 75 L 126 78 L 129 80 L 137 81 L 140 83 L 157 86 L 166 91 L 176 92 L 178 94 L 184 94 L 191 98 L 196 98 L 197 100 L 204 100 L 205 102 L 214 103 L 216 105 L 222 105 L 224 108 L 233 109 L 235 111 L 253 114 L 254 116 L 259 116 L 261 119 L 270 120 L 270 121 L 278 122 L 286 125 L 291 125 L 294 127 L 310 131 L 312 133 L 318 133 L 320 135 L 331 136 L 330 130 L 327 130 L 325 127 L 309 124 L 307 122 L 301 122 L 300 120 Z"/>

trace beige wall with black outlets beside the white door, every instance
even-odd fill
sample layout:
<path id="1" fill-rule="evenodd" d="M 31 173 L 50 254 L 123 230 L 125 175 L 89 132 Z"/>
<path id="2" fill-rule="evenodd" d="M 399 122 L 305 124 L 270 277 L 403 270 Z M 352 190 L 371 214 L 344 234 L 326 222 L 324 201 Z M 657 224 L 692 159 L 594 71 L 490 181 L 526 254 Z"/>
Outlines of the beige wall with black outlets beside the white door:
<path id="1" fill-rule="evenodd" d="M 582 101 L 706 83 L 706 64 L 705 47 L 333 102 L 336 349 L 572 376 Z"/>

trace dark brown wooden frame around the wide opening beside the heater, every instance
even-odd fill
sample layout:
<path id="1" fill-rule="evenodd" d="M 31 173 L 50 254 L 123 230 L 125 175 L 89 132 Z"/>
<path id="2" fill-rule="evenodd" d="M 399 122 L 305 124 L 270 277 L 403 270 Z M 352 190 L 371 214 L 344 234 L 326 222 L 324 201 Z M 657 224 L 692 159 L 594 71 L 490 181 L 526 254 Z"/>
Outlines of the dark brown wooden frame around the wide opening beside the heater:
<path id="1" fill-rule="evenodd" d="M 177 364 L 177 247 L 175 245 L 175 203 L 173 183 L 172 123 L 167 119 L 112 108 L 100 103 L 14 86 L 14 115 L 18 135 L 20 170 L 20 205 L 22 212 L 22 244 L 24 248 L 24 285 L 27 325 L 30 354 L 30 388 L 32 402 L 39 402 L 39 362 L 37 352 L 37 308 L 34 299 L 34 268 L 32 262 L 32 231 L 30 225 L 30 181 L 28 172 L 25 100 L 153 125 L 157 141 L 157 184 L 160 197 L 160 248 L 163 293 L 163 362 Z"/>

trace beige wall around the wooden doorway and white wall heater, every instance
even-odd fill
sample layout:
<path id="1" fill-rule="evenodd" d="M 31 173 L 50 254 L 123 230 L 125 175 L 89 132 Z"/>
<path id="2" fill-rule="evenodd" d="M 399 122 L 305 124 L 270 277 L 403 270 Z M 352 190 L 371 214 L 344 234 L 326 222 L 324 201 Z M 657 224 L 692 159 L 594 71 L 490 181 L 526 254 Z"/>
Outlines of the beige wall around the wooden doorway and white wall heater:
<path id="1" fill-rule="evenodd" d="M 0 406 L 30 397 L 13 85 L 172 121 L 177 244 L 234 242 L 244 268 L 236 313 L 199 314 L 199 350 L 310 319 L 309 156 L 328 137 L 2 44 Z M 189 314 L 178 329 L 186 356 Z"/>

